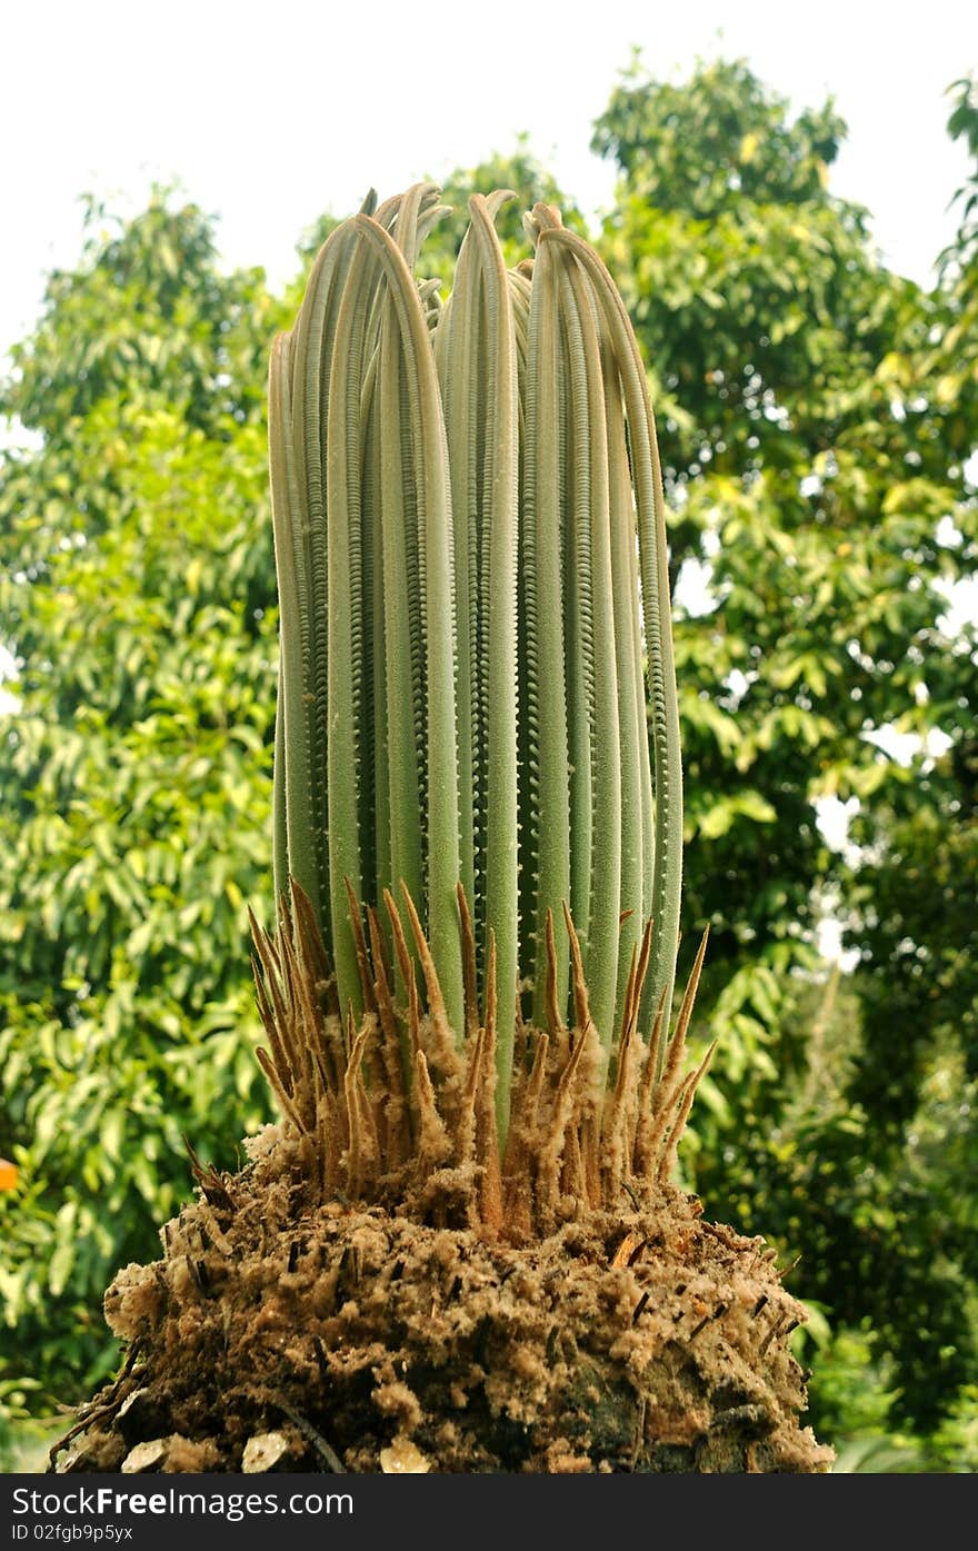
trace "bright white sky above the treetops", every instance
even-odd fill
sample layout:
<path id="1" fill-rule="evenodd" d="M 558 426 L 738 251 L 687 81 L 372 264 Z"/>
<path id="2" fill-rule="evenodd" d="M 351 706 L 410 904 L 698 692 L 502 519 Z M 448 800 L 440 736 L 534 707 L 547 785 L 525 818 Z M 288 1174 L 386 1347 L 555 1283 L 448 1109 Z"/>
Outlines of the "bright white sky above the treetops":
<path id="1" fill-rule="evenodd" d="M 834 93 L 849 123 L 834 188 L 927 279 L 964 171 L 944 92 L 978 68 L 978 5 L 0 0 L 0 355 L 43 271 L 76 257 L 88 189 L 135 209 L 153 178 L 180 180 L 222 217 L 228 261 L 273 284 L 321 209 L 505 154 L 524 130 L 594 212 L 614 174 L 589 152 L 592 124 L 632 45 L 676 79 L 697 56 L 746 56 L 795 107 Z"/>

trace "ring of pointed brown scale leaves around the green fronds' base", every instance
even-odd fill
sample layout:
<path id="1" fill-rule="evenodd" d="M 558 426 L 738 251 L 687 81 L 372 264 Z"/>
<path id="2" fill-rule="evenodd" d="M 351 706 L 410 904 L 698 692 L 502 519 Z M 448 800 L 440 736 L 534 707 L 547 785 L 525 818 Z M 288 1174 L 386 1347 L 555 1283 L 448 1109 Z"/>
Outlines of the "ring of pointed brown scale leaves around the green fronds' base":
<path id="1" fill-rule="evenodd" d="M 352 890 L 349 896 L 360 918 Z M 488 934 L 480 1011 L 471 915 L 459 893 L 467 997 L 459 1047 L 414 901 L 405 892 L 409 932 L 389 890 L 383 903 L 398 996 L 380 918 L 367 907 L 366 932 L 363 921 L 360 932 L 353 927 L 361 979 L 369 986 L 358 1021 L 352 1008 L 346 1021 L 330 1011 L 329 966 L 301 890 L 293 887 L 274 937 L 253 921 L 256 996 L 270 1047 L 259 1050 L 257 1059 L 285 1131 L 298 1145 L 296 1159 L 322 1199 L 423 1199 L 439 1221 L 448 1221 L 446 1202 L 454 1199 L 451 1211 L 467 1202 L 465 1221 L 477 1222 L 480 1231 L 519 1239 L 553 1227 L 567 1210 L 609 1207 L 622 1193 L 632 1199 L 629 1180 L 668 1179 L 693 1095 L 713 1055 L 711 1047 L 696 1072 L 682 1075 L 705 941 L 659 1072 L 662 1007 L 648 1045 L 639 1031 L 651 954 L 651 921 L 646 924 L 631 957 L 614 1079 L 606 1090 L 573 921 L 564 910 L 575 1014 L 569 1028 L 558 1008 L 553 917 L 547 917 L 549 1027 L 519 1022 L 513 1111 L 501 1163 L 494 937 Z M 442 1205 L 436 1210 L 437 1200 Z"/>

